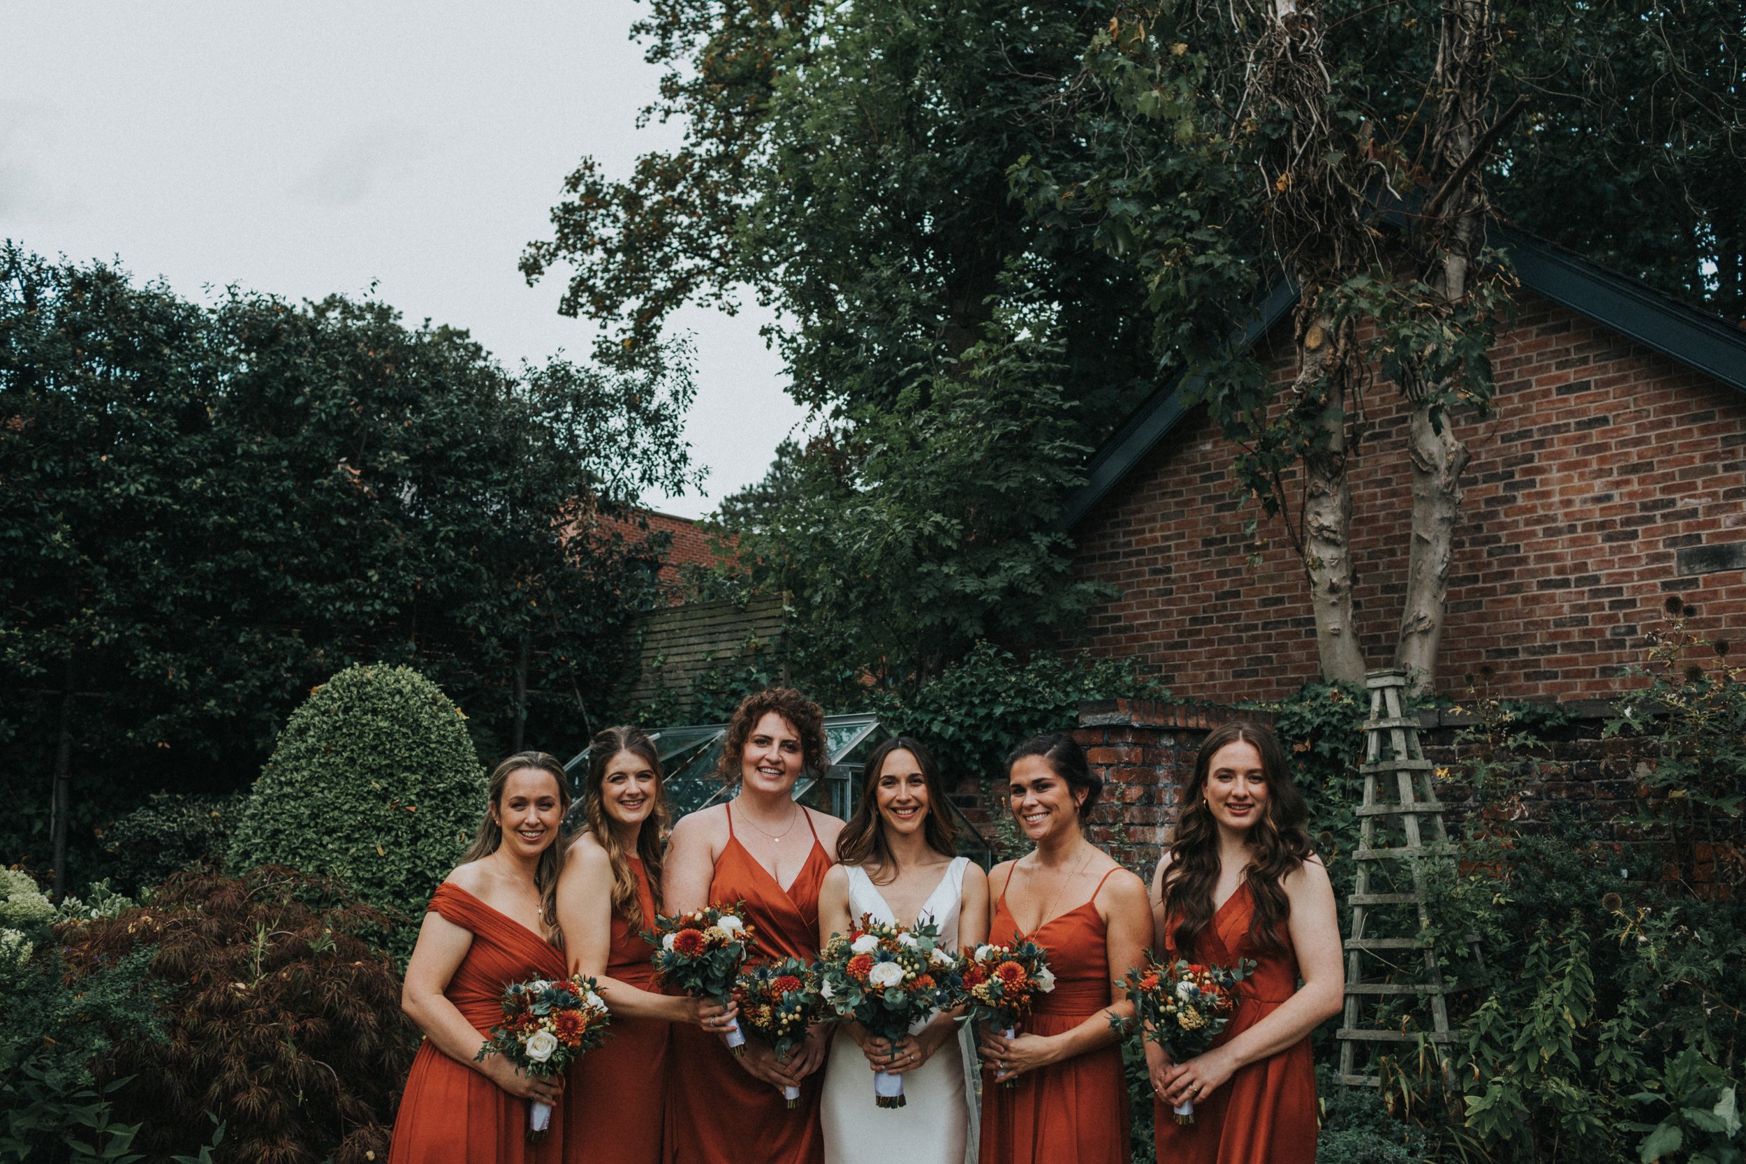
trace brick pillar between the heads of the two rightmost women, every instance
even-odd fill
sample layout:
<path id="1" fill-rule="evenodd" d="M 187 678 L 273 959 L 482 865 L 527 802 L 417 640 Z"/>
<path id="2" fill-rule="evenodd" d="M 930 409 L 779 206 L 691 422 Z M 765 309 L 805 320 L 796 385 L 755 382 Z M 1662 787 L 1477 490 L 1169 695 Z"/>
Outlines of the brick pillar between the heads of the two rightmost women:
<path id="1" fill-rule="evenodd" d="M 1093 700 L 1079 705 L 1074 738 L 1103 799 L 1091 815 L 1091 841 L 1140 876 L 1152 876 L 1180 811 L 1182 784 L 1206 733 L 1233 719 L 1271 722 L 1264 712 L 1158 700 Z"/>

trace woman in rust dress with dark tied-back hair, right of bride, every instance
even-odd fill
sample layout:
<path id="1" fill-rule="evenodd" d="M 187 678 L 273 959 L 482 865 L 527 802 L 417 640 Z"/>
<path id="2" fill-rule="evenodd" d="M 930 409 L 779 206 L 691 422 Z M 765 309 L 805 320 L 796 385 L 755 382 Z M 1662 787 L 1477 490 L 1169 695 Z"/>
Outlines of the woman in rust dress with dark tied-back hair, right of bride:
<path id="1" fill-rule="evenodd" d="M 981 1033 L 981 1164 L 1128 1164 L 1128 1085 L 1119 1033 L 1133 1005 L 1112 979 L 1152 941 L 1145 885 L 1086 839 L 1102 792 L 1072 736 L 1037 736 L 1007 757 L 1013 817 L 1035 848 L 988 874 L 988 941 L 1030 937 L 1048 951 L 1055 989 L 1016 1038 Z M 1014 1087 L 1006 1087 L 1016 1080 Z"/>

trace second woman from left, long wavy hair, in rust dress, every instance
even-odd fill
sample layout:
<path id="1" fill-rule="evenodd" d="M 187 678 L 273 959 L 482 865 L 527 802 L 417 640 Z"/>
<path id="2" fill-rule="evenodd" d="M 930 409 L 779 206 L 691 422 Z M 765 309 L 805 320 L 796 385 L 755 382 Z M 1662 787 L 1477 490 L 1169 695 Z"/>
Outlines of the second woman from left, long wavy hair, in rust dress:
<path id="1" fill-rule="evenodd" d="M 665 1155 L 669 1024 L 721 1030 L 714 1002 L 663 995 L 643 930 L 662 907 L 667 805 L 660 756 L 641 728 L 608 728 L 588 749 L 587 829 L 569 845 L 557 920 L 573 974 L 599 983 L 611 1037 L 571 1068 L 567 1164 L 660 1164 Z"/>

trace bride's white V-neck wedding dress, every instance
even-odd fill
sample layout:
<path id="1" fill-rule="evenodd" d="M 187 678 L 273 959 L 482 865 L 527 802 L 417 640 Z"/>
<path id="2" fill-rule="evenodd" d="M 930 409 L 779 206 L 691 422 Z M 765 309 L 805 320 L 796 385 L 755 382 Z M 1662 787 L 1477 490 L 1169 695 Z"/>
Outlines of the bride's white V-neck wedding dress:
<path id="1" fill-rule="evenodd" d="M 964 869 L 969 857 L 953 859 L 917 918 L 939 925 L 939 944 L 959 949 L 959 904 L 964 900 Z M 856 866 L 849 873 L 849 916 L 873 914 L 876 921 L 908 925 L 894 918 L 878 887 Z M 927 1019 L 910 1033 L 927 1026 Z M 901 1108 L 882 1108 L 873 1098 L 873 1068 L 847 1033 L 831 1040 L 824 1068 L 819 1122 L 824 1126 L 826 1164 L 974 1164 L 976 1087 L 974 1051 L 969 1030 L 934 1052 L 934 1058 L 903 1075 Z"/>

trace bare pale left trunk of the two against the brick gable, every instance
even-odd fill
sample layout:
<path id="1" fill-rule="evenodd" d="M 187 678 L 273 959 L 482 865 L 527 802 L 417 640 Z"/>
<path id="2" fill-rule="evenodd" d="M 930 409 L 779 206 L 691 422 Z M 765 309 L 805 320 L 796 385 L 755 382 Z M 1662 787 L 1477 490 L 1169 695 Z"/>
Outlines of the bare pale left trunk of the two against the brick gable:
<path id="1" fill-rule="evenodd" d="M 1310 297 L 1310 291 L 1304 291 Z M 1351 485 L 1346 480 L 1346 380 L 1334 323 L 1315 314 L 1297 337 L 1297 387 L 1323 380 L 1325 447 L 1304 457 L 1304 576 L 1315 609 L 1316 653 L 1327 682 L 1364 682 L 1351 620 Z"/>

